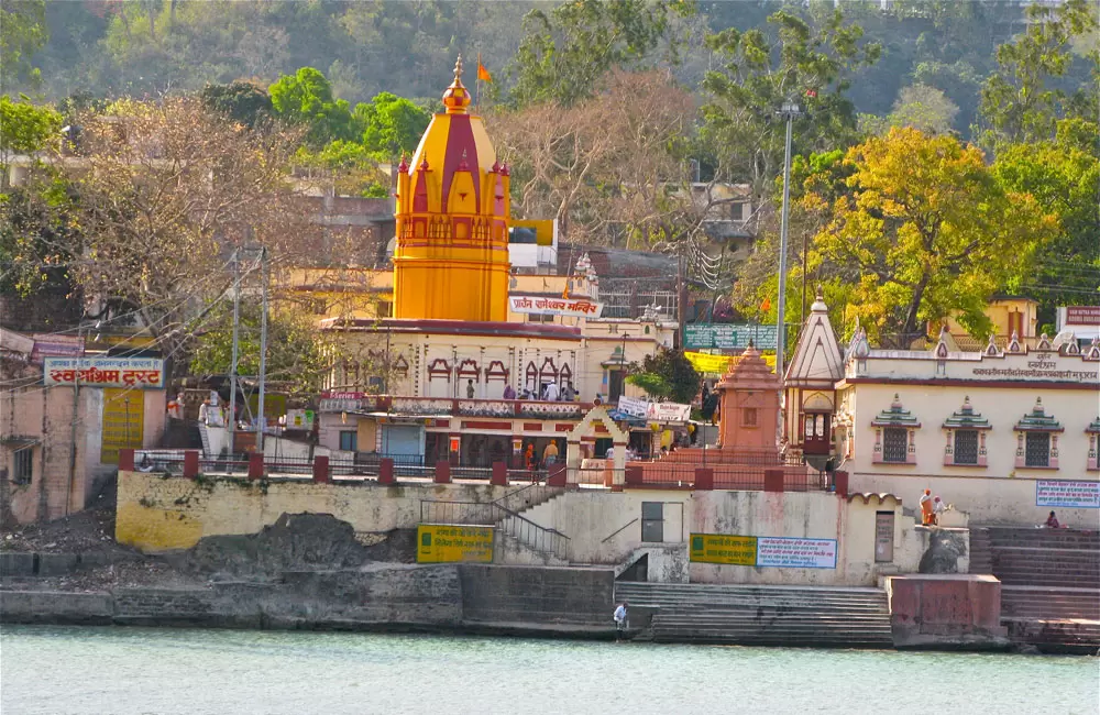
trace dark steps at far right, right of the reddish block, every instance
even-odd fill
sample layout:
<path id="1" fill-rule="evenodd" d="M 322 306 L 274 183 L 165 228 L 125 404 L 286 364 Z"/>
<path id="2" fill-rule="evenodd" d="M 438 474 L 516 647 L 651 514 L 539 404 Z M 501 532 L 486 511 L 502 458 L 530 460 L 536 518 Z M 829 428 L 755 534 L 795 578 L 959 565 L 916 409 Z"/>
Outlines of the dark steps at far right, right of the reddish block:
<path id="1" fill-rule="evenodd" d="M 1001 623 L 1041 650 L 1100 648 L 1100 534 L 972 527 L 970 572 L 1001 581 Z"/>

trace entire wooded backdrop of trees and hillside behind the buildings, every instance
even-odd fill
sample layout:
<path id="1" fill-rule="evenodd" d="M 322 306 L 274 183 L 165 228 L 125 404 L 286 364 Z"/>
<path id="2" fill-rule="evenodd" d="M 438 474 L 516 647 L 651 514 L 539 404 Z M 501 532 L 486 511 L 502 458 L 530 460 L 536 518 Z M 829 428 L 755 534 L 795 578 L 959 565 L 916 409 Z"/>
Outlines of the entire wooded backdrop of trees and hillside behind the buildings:
<path id="1" fill-rule="evenodd" d="M 56 153 L 66 123 L 91 135 L 125 118 L 153 145 L 161 124 L 220 136 L 213 148 L 177 148 L 229 166 L 255 142 L 277 163 L 272 186 L 307 169 L 331 182 L 326 190 L 384 197 L 385 165 L 416 147 L 461 53 L 509 167 L 514 216 L 557 219 L 564 242 L 675 253 L 701 294 L 772 321 L 777 113 L 796 101 L 787 321 L 801 321 L 805 278 L 823 287 L 836 324 L 858 318 L 883 343 L 908 345 L 947 316 L 982 336 L 993 295 L 1035 298 L 1043 321 L 1055 306 L 1097 300 L 1094 9 L 2 0 L 0 165 Z M 0 187 L 0 268 L 19 267 L 3 275 L 22 293 L 73 256 L 105 255 L 88 248 L 105 237 L 94 199 L 120 190 L 63 165 L 34 177 Z M 730 186 L 740 194 L 723 193 Z M 747 260 L 732 257 L 732 233 L 707 228 L 716 217 L 754 242 Z M 219 235 L 169 228 L 183 246 Z"/>

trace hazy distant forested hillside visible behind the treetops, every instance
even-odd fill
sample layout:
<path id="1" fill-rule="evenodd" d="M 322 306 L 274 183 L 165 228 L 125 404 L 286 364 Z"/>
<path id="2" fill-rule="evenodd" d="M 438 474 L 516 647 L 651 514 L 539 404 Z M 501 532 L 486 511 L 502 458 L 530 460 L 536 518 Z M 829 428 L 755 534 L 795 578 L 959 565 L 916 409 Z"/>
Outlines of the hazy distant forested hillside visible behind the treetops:
<path id="1" fill-rule="evenodd" d="M 516 52 L 532 10 L 552 2 L 484 0 L 4 0 L 7 8 L 38 6 L 45 42 L 30 57 L 37 84 L 23 74 L 6 79 L 6 91 L 58 100 L 160 95 L 200 89 L 235 79 L 264 86 L 299 67 L 321 70 L 333 94 L 351 105 L 381 91 L 403 97 L 439 95 L 454 62 L 481 54 L 494 89 L 516 81 Z M 680 3 L 683 4 L 683 3 Z M 678 43 L 675 74 L 697 87 L 716 63 L 704 36 L 727 28 L 765 28 L 781 8 L 821 15 L 833 2 L 737 0 L 698 2 L 690 16 L 670 14 L 668 36 Z M 901 90 L 920 84 L 943 91 L 957 107 L 937 106 L 967 135 L 978 109 L 978 90 L 996 66 L 997 45 L 1023 30 L 1024 9 L 1003 0 L 845 0 L 845 15 L 882 46 L 881 57 L 860 70 L 849 95 L 857 111 L 884 116 Z M 530 21 L 528 22 L 530 28 Z M 668 44 L 668 41 L 662 41 Z M 651 55 L 649 64 L 664 57 Z M 443 73 L 443 74 L 441 74 Z M 1086 75 L 1078 76 L 1080 80 Z"/>

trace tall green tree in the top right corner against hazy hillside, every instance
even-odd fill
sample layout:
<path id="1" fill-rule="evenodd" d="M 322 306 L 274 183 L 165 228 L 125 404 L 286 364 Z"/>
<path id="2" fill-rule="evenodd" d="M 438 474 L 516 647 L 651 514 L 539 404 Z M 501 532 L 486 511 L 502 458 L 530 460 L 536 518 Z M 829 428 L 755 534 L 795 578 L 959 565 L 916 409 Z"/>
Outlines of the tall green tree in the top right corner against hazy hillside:
<path id="1" fill-rule="evenodd" d="M 1096 52 L 1089 57 L 1092 82 L 1081 82 L 1074 91 L 1058 86 L 1071 76 L 1075 37 L 1097 32 L 1096 4 L 1066 0 L 1056 10 L 1035 4 L 1027 20 L 1026 32 L 997 48 L 998 68 L 981 90 L 986 141 L 991 145 L 1052 139 L 1069 106 L 1091 107 L 1088 118 L 1096 119 Z"/>

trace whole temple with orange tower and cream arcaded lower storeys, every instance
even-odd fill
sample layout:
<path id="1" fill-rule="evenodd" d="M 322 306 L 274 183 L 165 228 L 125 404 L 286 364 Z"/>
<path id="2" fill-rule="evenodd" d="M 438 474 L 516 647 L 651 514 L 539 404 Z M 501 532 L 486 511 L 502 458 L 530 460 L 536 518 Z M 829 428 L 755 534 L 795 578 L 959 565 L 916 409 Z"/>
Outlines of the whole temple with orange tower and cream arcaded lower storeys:
<path id="1" fill-rule="evenodd" d="M 346 356 L 318 405 L 320 442 L 471 466 L 528 447 L 541 454 L 551 441 L 564 454 L 564 435 L 593 402 L 641 396 L 627 369 L 671 348 L 676 324 L 657 307 L 604 317 L 586 255 L 570 275 L 513 271 L 508 168 L 468 112 L 461 59 L 443 105 L 397 167 L 394 271 L 289 275 Z M 534 244 L 514 243 L 530 255 L 514 256 L 538 268 L 553 224 L 524 228 Z"/>

